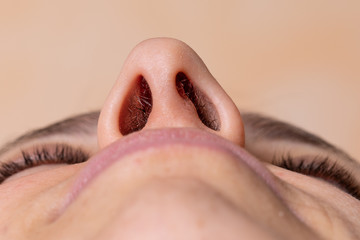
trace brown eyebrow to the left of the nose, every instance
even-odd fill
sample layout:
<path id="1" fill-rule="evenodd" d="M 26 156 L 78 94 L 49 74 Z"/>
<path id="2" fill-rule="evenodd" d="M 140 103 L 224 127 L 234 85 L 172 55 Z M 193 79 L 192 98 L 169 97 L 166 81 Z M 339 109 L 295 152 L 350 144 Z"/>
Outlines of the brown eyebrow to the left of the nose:
<path id="1" fill-rule="evenodd" d="M 100 111 L 89 112 L 85 114 L 76 115 L 60 122 L 48 125 L 44 128 L 30 131 L 14 141 L 5 144 L 0 148 L 0 156 L 8 150 L 21 145 L 23 143 L 32 141 L 34 139 L 46 138 L 53 135 L 81 135 L 93 134 L 96 130 Z"/>

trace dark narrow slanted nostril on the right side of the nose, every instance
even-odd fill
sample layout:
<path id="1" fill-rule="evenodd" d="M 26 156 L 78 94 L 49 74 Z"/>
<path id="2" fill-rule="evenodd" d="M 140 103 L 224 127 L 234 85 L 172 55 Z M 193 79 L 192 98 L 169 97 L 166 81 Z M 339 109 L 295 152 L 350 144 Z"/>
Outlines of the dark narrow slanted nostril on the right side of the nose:
<path id="1" fill-rule="evenodd" d="M 176 88 L 182 98 L 189 99 L 194 104 L 196 112 L 205 126 L 215 131 L 220 130 L 221 122 L 214 104 L 182 72 L 176 75 Z"/>

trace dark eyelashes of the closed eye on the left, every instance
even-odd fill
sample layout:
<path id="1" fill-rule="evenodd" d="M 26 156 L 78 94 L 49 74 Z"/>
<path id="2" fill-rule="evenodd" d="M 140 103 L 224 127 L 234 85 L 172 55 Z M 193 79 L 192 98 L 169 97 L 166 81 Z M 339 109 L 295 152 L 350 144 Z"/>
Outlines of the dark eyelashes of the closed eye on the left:
<path id="1" fill-rule="evenodd" d="M 2 163 L 0 165 L 0 183 L 12 175 L 31 167 L 43 164 L 82 163 L 90 157 L 84 150 L 66 144 L 57 144 L 52 149 L 41 146 L 32 151 L 21 151 L 22 159 L 19 162 Z"/>

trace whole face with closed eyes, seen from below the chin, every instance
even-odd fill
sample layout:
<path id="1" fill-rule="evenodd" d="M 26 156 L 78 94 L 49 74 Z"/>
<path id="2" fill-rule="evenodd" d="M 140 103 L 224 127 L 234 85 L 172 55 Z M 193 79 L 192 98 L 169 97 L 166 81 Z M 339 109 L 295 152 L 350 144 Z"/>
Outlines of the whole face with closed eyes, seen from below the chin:
<path id="1" fill-rule="evenodd" d="M 1 239 L 358 239 L 359 164 L 238 111 L 174 39 L 136 46 L 100 112 L 0 150 Z"/>

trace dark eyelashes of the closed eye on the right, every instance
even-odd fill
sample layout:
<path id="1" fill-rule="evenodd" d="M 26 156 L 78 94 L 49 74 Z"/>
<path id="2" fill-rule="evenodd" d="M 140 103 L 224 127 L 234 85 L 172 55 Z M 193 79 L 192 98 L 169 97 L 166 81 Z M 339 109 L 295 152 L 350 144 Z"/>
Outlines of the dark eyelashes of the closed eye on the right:
<path id="1" fill-rule="evenodd" d="M 275 165 L 307 176 L 321 178 L 360 200 L 360 190 L 354 177 L 339 164 L 329 162 L 328 158 L 313 157 L 309 160 L 282 156 L 281 161 Z"/>

